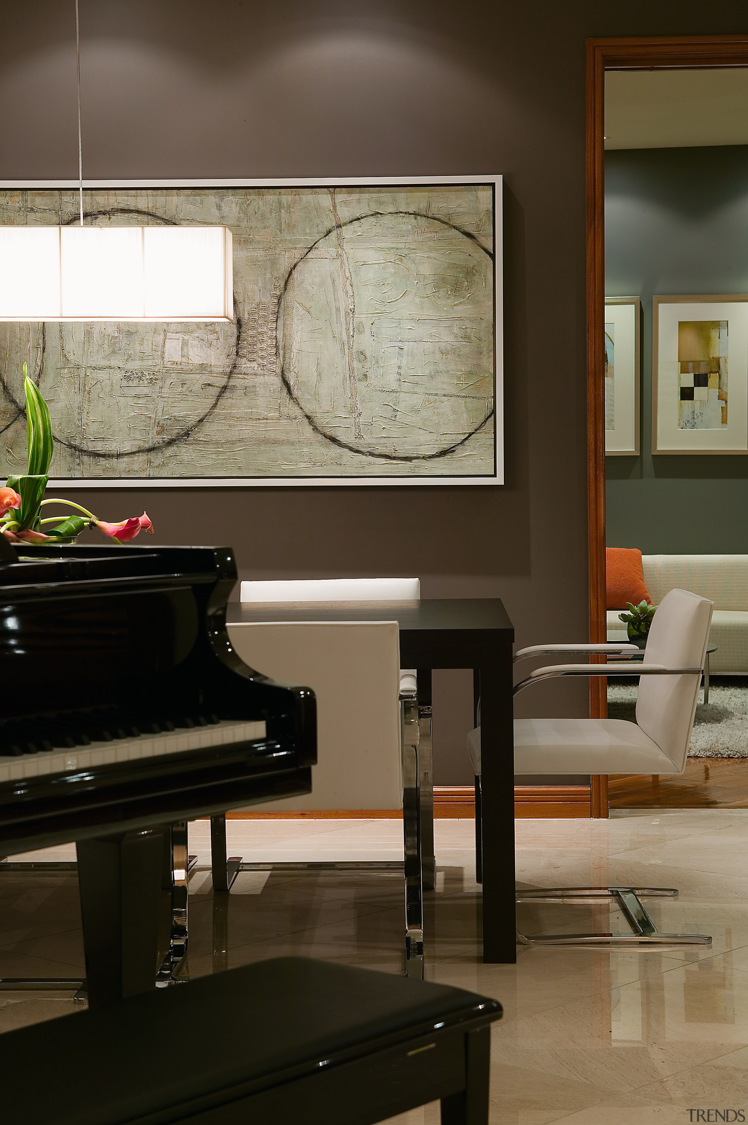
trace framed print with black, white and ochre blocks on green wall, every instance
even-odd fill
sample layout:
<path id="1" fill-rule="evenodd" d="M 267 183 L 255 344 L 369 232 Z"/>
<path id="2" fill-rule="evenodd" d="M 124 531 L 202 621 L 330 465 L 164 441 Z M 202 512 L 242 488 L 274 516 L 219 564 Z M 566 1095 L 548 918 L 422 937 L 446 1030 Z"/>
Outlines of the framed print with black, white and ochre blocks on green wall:
<path id="1" fill-rule="evenodd" d="M 652 453 L 748 453 L 748 294 L 652 299 Z"/>

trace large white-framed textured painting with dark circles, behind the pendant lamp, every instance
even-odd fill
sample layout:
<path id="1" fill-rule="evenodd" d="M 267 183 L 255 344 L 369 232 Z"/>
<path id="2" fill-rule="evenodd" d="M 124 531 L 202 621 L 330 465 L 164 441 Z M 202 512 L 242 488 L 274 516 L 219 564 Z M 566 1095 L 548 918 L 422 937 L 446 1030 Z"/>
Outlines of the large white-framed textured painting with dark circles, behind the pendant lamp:
<path id="1" fill-rule="evenodd" d="M 21 367 L 58 486 L 504 480 L 502 178 L 89 182 L 85 225 L 222 225 L 231 323 L 0 324 L 6 470 Z M 0 224 L 79 220 L 78 182 L 0 186 Z"/>

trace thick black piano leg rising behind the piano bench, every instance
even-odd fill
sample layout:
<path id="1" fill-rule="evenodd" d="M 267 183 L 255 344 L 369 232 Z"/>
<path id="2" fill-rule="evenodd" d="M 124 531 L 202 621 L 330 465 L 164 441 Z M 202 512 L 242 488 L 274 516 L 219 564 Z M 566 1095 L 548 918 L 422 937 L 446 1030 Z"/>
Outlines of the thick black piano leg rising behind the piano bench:
<path id="1" fill-rule="evenodd" d="M 78 883 L 90 1008 L 154 988 L 161 831 L 79 840 Z"/>

